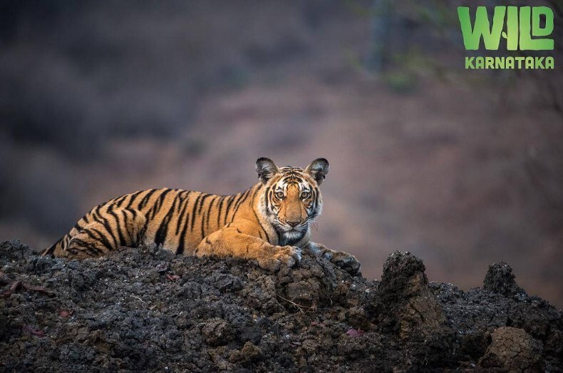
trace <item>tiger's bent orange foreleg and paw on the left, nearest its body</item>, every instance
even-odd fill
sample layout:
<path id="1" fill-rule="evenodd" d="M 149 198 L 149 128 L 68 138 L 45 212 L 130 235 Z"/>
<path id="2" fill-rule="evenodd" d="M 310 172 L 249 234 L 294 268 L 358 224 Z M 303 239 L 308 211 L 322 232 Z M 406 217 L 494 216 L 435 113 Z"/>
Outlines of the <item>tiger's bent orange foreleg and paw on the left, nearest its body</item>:
<path id="1" fill-rule="evenodd" d="M 282 265 L 293 267 L 301 260 L 301 249 L 276 246 L 258 237 L 239 233 L 236 228 L 218 230 L 205 237 L 194 254 L 198 257 L 215 255 L 257 260 L 265 270 L 277 271 Z"/>

